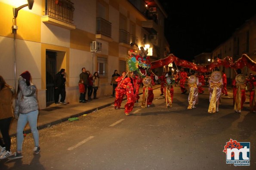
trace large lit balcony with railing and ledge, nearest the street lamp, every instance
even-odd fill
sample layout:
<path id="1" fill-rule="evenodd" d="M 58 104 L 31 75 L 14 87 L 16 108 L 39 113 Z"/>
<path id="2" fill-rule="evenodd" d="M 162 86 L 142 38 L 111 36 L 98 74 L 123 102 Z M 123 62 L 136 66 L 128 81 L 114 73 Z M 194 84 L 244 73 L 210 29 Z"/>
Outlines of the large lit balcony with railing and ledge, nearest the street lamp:
<path id="1" fill-rule="evenodd" d="M 68 30 L 74 30 L 74 3 L 69 0 L 45 0 L 42 21 Z"/>

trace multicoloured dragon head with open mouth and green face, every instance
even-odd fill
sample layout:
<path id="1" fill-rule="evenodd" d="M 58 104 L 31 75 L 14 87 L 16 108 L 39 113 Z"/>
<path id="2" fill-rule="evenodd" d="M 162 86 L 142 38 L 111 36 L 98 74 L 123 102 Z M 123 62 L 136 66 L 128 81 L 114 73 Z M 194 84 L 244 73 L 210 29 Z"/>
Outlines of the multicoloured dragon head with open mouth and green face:
<path id="1" fill-rule="evenodd" d="M 145 78 L 151 67 L 149 57 L 147 56 L 148 50 L 145 51 L 143 47 L 139 50 L 138 45 L 133 45 L 133 49 L 130 49 L 128 54 L 127 65 L 129 71 Z"/>

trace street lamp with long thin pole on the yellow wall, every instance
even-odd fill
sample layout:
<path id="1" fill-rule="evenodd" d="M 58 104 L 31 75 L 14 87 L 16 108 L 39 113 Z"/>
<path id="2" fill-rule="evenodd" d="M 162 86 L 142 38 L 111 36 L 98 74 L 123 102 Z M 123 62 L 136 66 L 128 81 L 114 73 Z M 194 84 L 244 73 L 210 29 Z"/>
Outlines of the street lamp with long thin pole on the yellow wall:
<path id="1" fill-rule="evenodd" d="M 25 6 L 28 6 L 28 9 L 32 9 L 34 4 L 34 0 L 28 0 L 27 4 L 24 4 L 22 6 L 19 6 L 18 8 L 12 8 L 13 11 L 13 19 L 16 19 L 18 16 L 18 12 L 20 9 L 24 8 Z M 16 24 L 16 22 L 15 22 Z M 15 53 L 15 49 L 16 49 L 16 33 L 18 30 L 18 26 L 17 25 L 12 25 L 12 33 L 13 33 L 13 42 L 14 42 L 14 47 L 13 47 L 13 54 L 14 54 L 14 89 L 16 89 L 16 53 Z"/>

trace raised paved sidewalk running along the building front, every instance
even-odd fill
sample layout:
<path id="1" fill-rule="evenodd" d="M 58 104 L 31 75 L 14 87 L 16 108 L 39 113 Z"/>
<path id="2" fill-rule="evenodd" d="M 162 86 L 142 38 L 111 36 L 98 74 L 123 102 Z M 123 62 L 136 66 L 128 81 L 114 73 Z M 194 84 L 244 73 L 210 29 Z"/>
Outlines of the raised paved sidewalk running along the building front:
<path id="1" fill-rule="evenodd" d="M 153 89 L 160 88 L 160 85 L 153 86 Z M 139 94 L 142 94 L 142 87 L 139 88 Z M 83 114 L 92 113 L 95 110 L 114 104 L 114 97 L 99 96 L 99 99 L 87 101 L 86 103 L 74 102 L 70 104 L 52 104 L 46 109 L 39 110 L 37 129 L 43 129 L 52 125 L 67 121 L 69 118 L 81 116 Z M 124 97 L 123 100 L 126 100 Z M 67 100 L 68 101 L 68 100 Z M 9 134 L 11 137 L 16 136 L 17 120 L 12 119 Z M 31 133 L 30 127 L 27 124 L 24 129 L 25 134 Z"/>

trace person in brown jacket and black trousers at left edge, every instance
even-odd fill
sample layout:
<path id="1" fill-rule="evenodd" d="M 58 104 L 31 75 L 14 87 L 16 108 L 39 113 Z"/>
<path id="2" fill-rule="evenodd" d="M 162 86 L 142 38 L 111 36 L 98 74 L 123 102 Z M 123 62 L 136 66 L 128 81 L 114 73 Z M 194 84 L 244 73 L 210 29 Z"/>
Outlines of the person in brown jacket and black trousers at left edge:
<path id="1" fill-rule="evenodd" d="M 0 140 L 0 159 L 12 155 L 9 128 L 13 117 L 12 99 L 14 95 L 13 87 L 6 84 L 3 77 L 0 76 L 0 131 L 4 142 Z"/>

